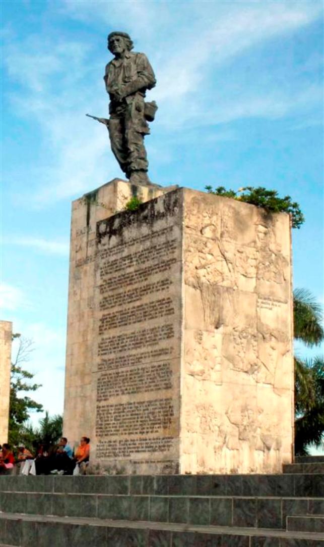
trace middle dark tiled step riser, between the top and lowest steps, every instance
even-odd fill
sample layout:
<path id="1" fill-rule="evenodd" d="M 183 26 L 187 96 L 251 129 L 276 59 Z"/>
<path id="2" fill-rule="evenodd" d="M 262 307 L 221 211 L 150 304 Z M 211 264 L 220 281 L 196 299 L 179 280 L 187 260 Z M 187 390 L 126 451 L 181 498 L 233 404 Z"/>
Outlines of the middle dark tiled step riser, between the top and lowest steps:
<path id="1" fill-rule="evenodd" d="M 1 492 L 0 510 L 96 519 L 280 529 L 287 516 L 322 515 L 321 498 Z"/>

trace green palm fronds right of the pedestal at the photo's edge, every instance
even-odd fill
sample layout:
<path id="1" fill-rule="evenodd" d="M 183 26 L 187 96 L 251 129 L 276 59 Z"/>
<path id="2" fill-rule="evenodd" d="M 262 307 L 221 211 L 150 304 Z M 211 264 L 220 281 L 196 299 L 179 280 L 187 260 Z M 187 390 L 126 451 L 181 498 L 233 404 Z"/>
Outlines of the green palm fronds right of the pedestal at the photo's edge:
<path id="1" fill-rule="evenodd" d="M 307 289 L 293 293 L 294 336 L 308 347 L 324 340 L 322 308 Z M 295 454 L 308 453 L 307 446 L 322 445 L 324 434 L 323 357 L 295 357 Z"/>

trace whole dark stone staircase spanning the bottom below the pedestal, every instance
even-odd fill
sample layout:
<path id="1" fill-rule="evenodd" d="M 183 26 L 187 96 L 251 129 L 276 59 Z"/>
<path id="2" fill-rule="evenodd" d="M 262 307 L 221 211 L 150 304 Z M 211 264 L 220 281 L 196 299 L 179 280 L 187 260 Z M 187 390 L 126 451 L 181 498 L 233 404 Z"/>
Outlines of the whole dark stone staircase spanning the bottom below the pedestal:
<path id="1" fill-rule="evenodd" d="M 0 545 L 324 547 L 322 465 L 298 460 L 282 475 L 1 476 Z"/>

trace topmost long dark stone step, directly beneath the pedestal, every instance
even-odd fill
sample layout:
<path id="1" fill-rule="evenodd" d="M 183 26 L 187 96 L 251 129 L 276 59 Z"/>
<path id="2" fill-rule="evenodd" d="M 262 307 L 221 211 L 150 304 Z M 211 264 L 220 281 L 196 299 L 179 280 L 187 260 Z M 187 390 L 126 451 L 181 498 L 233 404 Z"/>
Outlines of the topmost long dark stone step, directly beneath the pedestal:
<path id="1" fill-rule="evenodd" d="M 324 474 L 0 476 L 0 492 L 324 497 Z"/>

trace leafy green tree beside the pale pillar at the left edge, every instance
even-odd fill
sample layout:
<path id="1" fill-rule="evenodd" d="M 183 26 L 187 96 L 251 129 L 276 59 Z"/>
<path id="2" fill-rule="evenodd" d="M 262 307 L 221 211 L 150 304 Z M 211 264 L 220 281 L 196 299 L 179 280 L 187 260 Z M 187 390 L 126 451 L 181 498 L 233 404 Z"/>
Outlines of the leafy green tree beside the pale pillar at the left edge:
<path id="1" fill-rule="evenodd" d="M 9 434 L 8 440 L 12 445 L 24 442 L 23 424 L 28 420 L 29 412 L 41 412 L 43 405 L 37 403 L 22 392 L 36 391 L 40 385 L 30 383 L 34 375 L 23 369 L 21 363 L 30 358 L 33 351 L 33 341 L 20 334 L 14 334 L 13 339 L 19 339 L 19 345 L 14 363 L 11 363 L 10 379 L 10 406 L 9 406 Z"/>

